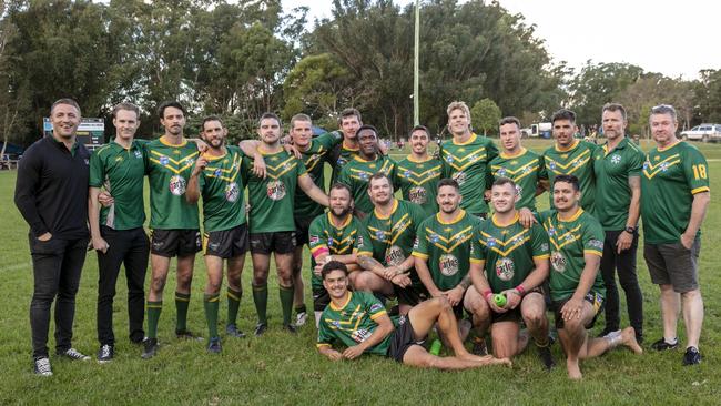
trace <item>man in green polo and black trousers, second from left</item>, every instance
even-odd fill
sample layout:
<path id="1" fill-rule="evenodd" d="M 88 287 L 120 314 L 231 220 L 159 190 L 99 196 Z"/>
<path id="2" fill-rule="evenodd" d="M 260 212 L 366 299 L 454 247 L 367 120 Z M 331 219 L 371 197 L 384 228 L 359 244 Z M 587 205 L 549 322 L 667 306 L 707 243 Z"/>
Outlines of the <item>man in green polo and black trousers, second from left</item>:
<path id="1" fill-rule="evenodd" d="M 98 252 L 98 362 L 106 363 L 115 354 L 113 334 L 113 297 L 120 265 L 125 264 L 128 282 L 128 322 L 130 341 L 141 344 L 145 332 L 145 274 L 150 242 L 143 224 L 145 204 L 144 149 L 135 140 L 140 126 L 140 109 L 120 103 L 113 109 L 115 138 L 90 158 L 90 232 Z M 101 187 L 111 193 L 113 203 L 101 207 Z"/>

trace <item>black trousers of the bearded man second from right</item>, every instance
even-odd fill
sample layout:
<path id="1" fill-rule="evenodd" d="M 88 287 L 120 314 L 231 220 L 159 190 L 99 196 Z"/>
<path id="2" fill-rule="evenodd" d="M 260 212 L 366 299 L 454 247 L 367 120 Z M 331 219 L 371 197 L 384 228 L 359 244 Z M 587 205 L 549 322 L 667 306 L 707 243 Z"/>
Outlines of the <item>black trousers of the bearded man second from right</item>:
<path id="1" fill-rule="evenodd" d="M 601 258 L 601 275 L 606 284 L 606 328 L 619 329 L 621 319 L 619 315 L 619 295 L 616 287 L 616 270 L 618 280 L 626 292 L 626 305 L 629 322 L 638 334 L 643 333 L 643 294 L 639 286 L 636 273 L 636 251 L 638 248 L 638 233 L 633 235 L 631 246 L 618 254 L 616 241 L 622 231 L 607 231 L 603 243 L 603 257 Z"/>

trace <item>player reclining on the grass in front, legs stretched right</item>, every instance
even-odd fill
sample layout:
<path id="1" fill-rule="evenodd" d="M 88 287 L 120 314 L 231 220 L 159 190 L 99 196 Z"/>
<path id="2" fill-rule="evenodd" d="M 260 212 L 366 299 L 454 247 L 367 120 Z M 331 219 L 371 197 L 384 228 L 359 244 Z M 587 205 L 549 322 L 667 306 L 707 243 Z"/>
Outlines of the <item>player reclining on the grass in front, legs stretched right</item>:
<path id="1" fill-rule="evenodd" d="M 329 359 L 355 359 L 363 353 L 369 353 L 426 368 L 466 369 L 497 364 L 510 366 L 508 358 L 497 359 L 489 355 L 480 357 L 464 348 L 458 336 L 456 316 L 444 297 L 413 307 L 396 325 L 383 304 L 370 293 L 348 291 L 348 271 L 345 264 L 331 261 L 323 266 L 322 275 L 331 304 L 321 316 L 317 347 Z M 353 312 L 345 312 L 346 308 L 352 308 Z M 436 324 L 450 343 L 455 356 L 438 357 L 422 346 Z M 343 353 L 331 346 L 336 339 L 348 346 Z"/>

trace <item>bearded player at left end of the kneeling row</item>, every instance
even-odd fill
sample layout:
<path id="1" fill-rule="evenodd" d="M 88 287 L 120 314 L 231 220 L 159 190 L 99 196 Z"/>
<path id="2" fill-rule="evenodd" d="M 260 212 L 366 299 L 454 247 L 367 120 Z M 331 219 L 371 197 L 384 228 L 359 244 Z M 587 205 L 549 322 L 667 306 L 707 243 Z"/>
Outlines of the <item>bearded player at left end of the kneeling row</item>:
<path id="1" fill-rule="evenodd" d="M 362 233 L 360 221 L 353 215 L 353 197 L 351 189 L 343 183 L 335 183 L 328 193 L 331 207 L 328 213 L 315 217 L 311 223 L 308 233 L 311 246 L 311 264 L 313 276 L 313 308 L 315 311 L 315 326 L 318 326 L 321 313 L 331 303 L 328 292 L 323 287 L 321 270 L 331 261 L 345 264 L 351 277 L 357 275 L 360 267 L 356 263 L 355 246 Z"/>

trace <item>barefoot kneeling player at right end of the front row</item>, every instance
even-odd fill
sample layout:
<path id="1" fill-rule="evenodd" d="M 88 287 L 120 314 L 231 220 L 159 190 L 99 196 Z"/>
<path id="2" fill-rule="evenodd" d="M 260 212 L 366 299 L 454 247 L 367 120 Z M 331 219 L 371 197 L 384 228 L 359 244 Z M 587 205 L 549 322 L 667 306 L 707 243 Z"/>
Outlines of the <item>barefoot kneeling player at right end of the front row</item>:
<path id="1" fill-rule="evenodd" d="M 598 273 L 603 254 L 601 224 L 580 207 L 581 192 L 573 175 L 558 175 L 554 183 L 554 206 L 540 213 L 551 248 L 550 296 L 556 328 L 566 352 L 566 368 L 571 379 L 582 377 L 580 359 L 599 356 L 624 345 L 636 354 L 643 351 L 636 342 L 633 327 L 590 338 L 603 306 L 603 280 Z"/>

